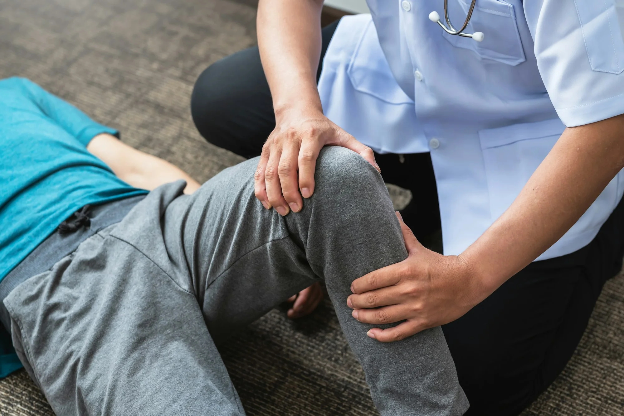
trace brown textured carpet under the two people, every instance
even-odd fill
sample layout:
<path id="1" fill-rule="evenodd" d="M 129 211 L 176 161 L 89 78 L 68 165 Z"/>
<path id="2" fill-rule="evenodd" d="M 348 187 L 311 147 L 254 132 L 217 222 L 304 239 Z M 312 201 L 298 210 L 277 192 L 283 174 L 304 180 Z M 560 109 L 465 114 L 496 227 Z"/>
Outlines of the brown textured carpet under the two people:
<path id="1" fill-rule="evenodd" d="M 241 158 L 195 131 L 193 82 L 254 43 L 253 0 L 0 0 L 0 78 L 31 78 L 200 181 Z M 619 276 L 572 361 L 524 415 L 624 415 L 623 330 Z M 251 416 L 376 414 L 328 301 L 295 322 L 272 311 L 222 352 Z M 18 372 L 0 381 L 0 414 L 52 412 Z"/>

